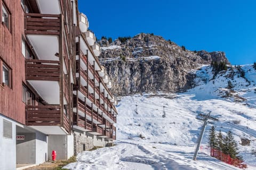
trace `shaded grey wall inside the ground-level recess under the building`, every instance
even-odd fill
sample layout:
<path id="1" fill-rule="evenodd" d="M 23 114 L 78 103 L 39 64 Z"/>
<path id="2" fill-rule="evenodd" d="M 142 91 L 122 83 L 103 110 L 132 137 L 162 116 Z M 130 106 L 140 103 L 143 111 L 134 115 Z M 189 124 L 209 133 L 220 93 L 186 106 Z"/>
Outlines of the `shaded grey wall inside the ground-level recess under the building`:
<path id="1" fill-rule="evenodd" d="M 25 135 L 25 140 L 17 140 L 17 164 L 36 163 L 36 133 L 17 133 Z"/>

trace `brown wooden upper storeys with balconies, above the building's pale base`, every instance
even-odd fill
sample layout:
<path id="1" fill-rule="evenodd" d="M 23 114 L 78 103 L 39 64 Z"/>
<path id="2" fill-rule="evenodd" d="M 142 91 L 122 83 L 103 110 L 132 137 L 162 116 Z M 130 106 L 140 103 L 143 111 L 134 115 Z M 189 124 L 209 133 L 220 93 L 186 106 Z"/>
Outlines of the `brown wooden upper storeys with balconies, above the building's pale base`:
<path id="1" fill-rule="evenodd" d="M 98 73 L 101 66 L 93 50 L 100 49 L 93 49 L 79 29 L 77 1 L 60 0 L 60 14 L 40 13 L 36 0 L 0 2 L 1 18 L 3 5 L 10 14 L 9 28 L 0 24 L 0 114 L 32 127 L 60 126 L 71 133 L 77 126 L 114 139 L 114 98 Z M 55 44 L 49 42 L 58 47 L 55 54 L 47 53 L 41 37 L 58 39 Z M 87 51 L 82 50 L 81 41 Z M 3 65 L 10 70 L 9 85 L 3 83 Z M 59 100 L 45 95 L 39 82 L 59 84 L 59 94 L 53 97 Z M 33 96 L 29 102 L 24 101 L 24 87 Z"/>

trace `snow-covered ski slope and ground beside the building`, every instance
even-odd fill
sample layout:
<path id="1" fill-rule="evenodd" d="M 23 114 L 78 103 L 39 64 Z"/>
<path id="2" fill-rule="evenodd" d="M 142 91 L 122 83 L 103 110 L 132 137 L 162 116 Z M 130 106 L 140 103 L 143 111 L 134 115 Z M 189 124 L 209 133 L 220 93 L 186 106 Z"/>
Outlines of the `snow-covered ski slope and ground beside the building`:
<path id="1" fill-rule="evenodd" d="M 117 105 L 117 141 L 114 147 L 85 151 L 69 169 L 238 169 L 209 156 L 207 135 L 212 125 L 224 134 L 234 133 L 247 169 L 256 169 L 256 72 L 243 66 L 245 78 L 230 77 L 231 71 L 215 79 L 209 66 L 197 71 L 197 86 L 181 94 L 137 94 L 125 96 Z M 228 89 L 228 80 L 234 88 Z M 214 82 L 213 82 L 214 81 Z M 250 83 L 249 83 L 250 82 Z M 137 105 L 137 106 L 136 106 Z M 164 112 L 165 111 L 165 112 Z M 192 160 L 203 122 L 210 121 L 197 161 Z M 250 140 L 242 146 L 241 138 Z"/>

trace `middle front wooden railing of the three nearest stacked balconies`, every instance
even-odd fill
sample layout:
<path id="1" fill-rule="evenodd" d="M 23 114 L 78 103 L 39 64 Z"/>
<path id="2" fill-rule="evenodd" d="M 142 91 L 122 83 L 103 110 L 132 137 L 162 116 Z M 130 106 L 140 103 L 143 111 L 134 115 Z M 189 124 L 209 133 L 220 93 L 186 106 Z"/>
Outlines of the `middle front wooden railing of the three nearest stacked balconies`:
<path id="1" fill-rule="evenodd" d="M 50 60 L 26 60 L 26 79 L 60 81 L 60 62 Z"/>

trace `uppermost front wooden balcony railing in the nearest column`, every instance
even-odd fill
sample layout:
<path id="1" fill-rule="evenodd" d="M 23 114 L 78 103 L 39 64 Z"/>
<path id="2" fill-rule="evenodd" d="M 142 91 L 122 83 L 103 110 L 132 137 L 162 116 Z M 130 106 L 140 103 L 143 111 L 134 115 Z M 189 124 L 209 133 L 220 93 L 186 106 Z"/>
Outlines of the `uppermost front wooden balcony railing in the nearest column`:
<path id="1" fill-rule="evenodd" d="M 25 33 L 27 35 L 60 35 L 61 15 L 25 14 Z"/>

